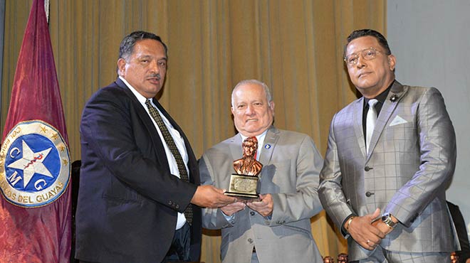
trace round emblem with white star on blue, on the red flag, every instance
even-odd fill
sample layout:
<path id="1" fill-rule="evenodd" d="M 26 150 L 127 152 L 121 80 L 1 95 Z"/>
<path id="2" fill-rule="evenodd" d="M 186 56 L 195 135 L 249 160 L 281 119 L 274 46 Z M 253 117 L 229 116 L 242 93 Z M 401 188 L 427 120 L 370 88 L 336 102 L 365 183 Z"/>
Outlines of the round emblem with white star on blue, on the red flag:
<path id="1" fill-rule="evenodd" d="M 20 122 L 0 151 L 0 189 L 14 205 L 36 208 L 57 200 L 70 181 L 66 143 L 47 122 Z"/>

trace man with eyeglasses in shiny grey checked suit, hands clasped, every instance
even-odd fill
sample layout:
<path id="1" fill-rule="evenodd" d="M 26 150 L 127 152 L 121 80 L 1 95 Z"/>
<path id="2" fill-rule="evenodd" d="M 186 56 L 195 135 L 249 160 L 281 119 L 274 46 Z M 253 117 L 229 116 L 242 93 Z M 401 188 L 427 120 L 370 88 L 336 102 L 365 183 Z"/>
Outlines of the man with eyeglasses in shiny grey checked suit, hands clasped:
<path id="1" fill-rule="evenodd" d="M 456 141 L 442 95 L 395 80 L 396 58 L 377 31 L 353 31 L 344 54 L 362 97 L 333 117 L 318 193 L 349 260 L 450 262 L 459 245 L 445 190 Z"/>

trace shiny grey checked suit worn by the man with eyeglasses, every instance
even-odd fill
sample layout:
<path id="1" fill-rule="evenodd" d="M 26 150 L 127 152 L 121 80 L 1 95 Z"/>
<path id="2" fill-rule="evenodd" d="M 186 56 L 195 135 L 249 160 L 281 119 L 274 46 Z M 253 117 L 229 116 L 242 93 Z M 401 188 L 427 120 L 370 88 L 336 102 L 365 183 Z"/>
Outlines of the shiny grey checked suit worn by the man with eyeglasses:
<path id="1" fill-rule="evenodd" d="M 330 126 L 319 195 L 335 225 L 380 208 L 400 223 L 380 246 L 395 252 L 451 252 L 456 235 L 445 188 L 454 173 L 454 128 L 434 87 L 395 81 L 365 151 L 363 98 L 340 110 Z M 348 237 L 343 233 L 345 237 Z M 350 260 L 371 252 L 348 239 Z"/>

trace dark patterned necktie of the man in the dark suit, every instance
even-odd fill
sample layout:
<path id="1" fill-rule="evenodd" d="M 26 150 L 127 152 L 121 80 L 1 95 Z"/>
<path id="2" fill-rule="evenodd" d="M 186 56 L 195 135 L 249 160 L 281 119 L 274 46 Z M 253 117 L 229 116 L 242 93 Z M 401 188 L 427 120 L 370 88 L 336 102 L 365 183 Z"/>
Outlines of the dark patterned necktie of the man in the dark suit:
<path id="1" fill-rule="evenodd" d="M 146 100 L 145 105 L 147 105 L 150 115 L 153 117 L 153 119 L 155 119 L 155 122 L 157 122 L 157 125 L 160 128 L 160 132 L 162 132 L 164 141 L 167 143 L 169 151 L 172 152 L 174 159 L 177 162 L 179 176 L 181 176 L 183 181 L 189 182 L 186 166 L 184 166 L 184 161 L 181 157 L 181 154 L 179 154 L 176 144 L 174 144 L 172 135 L 169 134 L 168 132 L 167 125 L 165 125 L 163 122 L 162 116 L 160 116 L 160 113 L 157 111 L 157 109 L 155 109 L 155 107 L 153 107 L 152 104 L 150 104 L 150 100 Z M 184 210 L 184 217 L 186 218 L 186 221 L 189 224 L 192 223 L 192 205 L 191 204 L 189 204 L 187 208 Z"/>

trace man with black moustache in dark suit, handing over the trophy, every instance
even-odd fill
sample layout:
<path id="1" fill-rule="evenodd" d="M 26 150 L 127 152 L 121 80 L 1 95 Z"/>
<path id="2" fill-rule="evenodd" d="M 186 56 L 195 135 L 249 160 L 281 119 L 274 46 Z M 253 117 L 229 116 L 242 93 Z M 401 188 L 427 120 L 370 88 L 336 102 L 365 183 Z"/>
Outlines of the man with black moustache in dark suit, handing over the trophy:
<path id="1" fill-rule="evenodd" d="M 160 37 L 120 45 L 117 80 L 91 97 L 80 125 L 76 254 L 85 262 L 197 261 L 200 207 L 235 198 L 199 186 L 187 137 L 154 99 L 167 70 Z"/>

